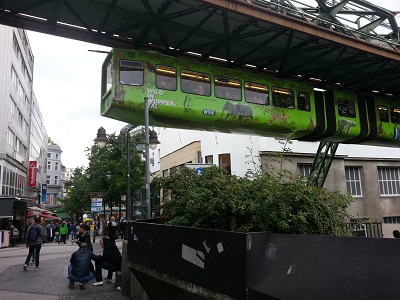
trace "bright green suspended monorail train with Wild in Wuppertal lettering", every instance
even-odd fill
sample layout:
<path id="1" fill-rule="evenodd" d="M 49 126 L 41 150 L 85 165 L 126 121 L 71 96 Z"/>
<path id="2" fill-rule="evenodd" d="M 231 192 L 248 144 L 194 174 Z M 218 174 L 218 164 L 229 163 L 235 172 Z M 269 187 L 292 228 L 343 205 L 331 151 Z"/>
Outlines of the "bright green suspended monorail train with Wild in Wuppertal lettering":
<path id="1" fill-rule="evenodd" d="M 113 49 L 101 115 L 153 126 L 398 147 L 400 101 L 163 54 Z"/>

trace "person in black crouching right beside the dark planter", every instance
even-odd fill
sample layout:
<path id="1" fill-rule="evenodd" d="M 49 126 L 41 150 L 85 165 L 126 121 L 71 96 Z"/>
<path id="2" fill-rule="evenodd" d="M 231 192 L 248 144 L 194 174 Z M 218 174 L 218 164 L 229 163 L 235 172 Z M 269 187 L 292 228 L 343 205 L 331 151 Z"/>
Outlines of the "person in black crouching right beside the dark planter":
<path id="1" fill-rule="evenodd" d="M 96 263 L 96 282 L 92 284 L 93 286 L 103 285 L 103 269 L 108 270 L 104 281 L 111 282 L 113 272 L 120 271 L 122 263 L 122 255 L 115 243 L 107 237 L 103 237 L 99 243 L 103 247 L 103 255 L 92 255 L 92 260 Z"/>

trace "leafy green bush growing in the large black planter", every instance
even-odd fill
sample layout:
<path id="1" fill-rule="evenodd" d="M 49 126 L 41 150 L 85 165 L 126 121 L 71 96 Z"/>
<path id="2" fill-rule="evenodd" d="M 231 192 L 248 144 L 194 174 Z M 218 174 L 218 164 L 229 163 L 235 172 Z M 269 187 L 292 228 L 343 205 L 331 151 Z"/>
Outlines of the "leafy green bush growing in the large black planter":
<path id="1" fill-rule="evenodd" d="M 343 235 L 348 196 L 304 184 L 304 178 L 237 177 L 211 167 L 180 168 L 158 178 L 166 224 L 237 232 Z"/>

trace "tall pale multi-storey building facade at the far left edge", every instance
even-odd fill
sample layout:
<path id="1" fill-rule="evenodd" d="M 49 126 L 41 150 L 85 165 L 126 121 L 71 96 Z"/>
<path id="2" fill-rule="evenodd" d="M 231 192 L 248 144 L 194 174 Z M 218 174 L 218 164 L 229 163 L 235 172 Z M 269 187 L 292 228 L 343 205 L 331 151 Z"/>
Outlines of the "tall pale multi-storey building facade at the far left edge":
<path id="1" fill-rule="evenodd" d="M 28 195 L 33 54 L 26 32 L 0 26 L 0 190 Z"/>

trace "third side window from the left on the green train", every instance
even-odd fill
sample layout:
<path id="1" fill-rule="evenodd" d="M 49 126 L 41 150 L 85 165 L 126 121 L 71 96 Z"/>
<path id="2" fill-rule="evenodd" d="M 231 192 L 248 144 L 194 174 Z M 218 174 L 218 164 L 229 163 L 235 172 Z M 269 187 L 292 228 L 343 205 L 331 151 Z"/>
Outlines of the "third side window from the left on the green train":
<path id="1" fill-rule="evenodd" d="M 188 70 L 181 72 L 181 89 L 184 93 L 210 96 L 210 75 Z"/>

